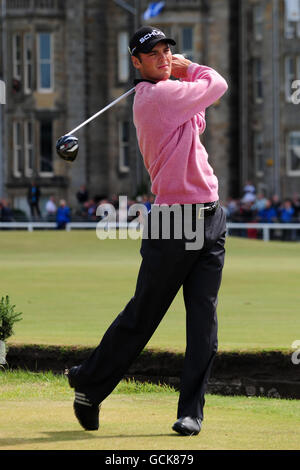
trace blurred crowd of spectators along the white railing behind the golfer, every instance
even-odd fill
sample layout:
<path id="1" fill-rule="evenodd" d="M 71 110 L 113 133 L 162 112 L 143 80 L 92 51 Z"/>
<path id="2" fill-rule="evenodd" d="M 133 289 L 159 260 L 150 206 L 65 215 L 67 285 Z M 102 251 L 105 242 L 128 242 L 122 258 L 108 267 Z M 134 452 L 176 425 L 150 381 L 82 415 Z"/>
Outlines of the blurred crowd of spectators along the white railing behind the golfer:
<path id="1" fill-rule="evenodd" d="M 90 197 L 86 186 L 82 185 L 76 193 L 76 204 L 69 207 L 64 199 L 55 200 L 50 196 L 45 204 L 40 208 L 41 191 L 32 182 L 28 188 L 27 202 L 30 212 L 30 220 L 46 220 L 56 222 L 58 229 L 64 229 L 68 222 L 72 221 L 99 221 L 97 208 L 101 204 L 112 204 L 119 212 L 119 196 L 114 194 L 111 198 L 105 195 Z M 154 203 L 154 196 L 147 194 L 138 196 L 135 200 L 127 200 L 127 209 L 135 203 L 144 204 L 148 211 Z M 300 223 L 300 196 L 295 194 L 292 198 L 280 200 L 277 195 L 268 198 L 263 193 L 257 193 L 255 186 L 247 182 L 244 186 L 242 197 L 238 199 L 229 198 L 222 203 L 226 211 L 228 222 L 239 223 Z M 15 211 L 4 199 L 0 200 L 0 221 L 11 222 L 16 220 Z M 20 220 L 20 219 L 18 219 Z M 271 239 L 300 240 L 300 230 L 271 230 Z M 230 234 L 248 237 L 261 238 L 262 231 L 256 228 L 230 229 Z"/>

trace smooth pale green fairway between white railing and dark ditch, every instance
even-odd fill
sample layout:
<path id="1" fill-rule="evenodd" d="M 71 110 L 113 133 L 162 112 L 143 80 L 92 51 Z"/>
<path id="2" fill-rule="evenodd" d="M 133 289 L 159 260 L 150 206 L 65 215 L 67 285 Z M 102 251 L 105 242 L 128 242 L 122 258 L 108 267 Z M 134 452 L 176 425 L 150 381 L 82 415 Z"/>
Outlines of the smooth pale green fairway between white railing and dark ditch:
<path id="1" fill-rule="evenodd" d="M 2 231 L 0 243 L 0 294 L 23 312 L 13 343 L 94 346 L 134 294 L 140 240 Z M 289 350 L 300 339 L 300 244 L 228 238 L 226 250 L 219 350 Z M 148 347 L 184 351 L 181 291 Z"/>

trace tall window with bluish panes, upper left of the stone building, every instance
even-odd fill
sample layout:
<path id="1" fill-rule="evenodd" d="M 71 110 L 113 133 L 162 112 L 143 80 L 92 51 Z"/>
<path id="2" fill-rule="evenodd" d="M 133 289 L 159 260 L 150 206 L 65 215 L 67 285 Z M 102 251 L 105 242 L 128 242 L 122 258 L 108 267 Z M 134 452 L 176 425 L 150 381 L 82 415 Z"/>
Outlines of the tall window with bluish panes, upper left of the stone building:
<path id="1" fill-rule="evenodd" d="M 52 38 L 50 33 L 38 34 L 38 91 L 53 89 Z"/>

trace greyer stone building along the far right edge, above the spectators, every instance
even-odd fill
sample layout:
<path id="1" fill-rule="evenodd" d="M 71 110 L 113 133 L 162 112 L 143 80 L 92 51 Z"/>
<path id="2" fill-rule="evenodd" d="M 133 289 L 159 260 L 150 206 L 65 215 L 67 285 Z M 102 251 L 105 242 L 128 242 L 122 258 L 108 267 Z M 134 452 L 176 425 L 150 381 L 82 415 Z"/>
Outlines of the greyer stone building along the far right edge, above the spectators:
<path id="1" fill-rule="evenodd" d="M 240 26 L 240 181 L 292 197 L 300 193 L 300 2 L 243 0 Z"/>

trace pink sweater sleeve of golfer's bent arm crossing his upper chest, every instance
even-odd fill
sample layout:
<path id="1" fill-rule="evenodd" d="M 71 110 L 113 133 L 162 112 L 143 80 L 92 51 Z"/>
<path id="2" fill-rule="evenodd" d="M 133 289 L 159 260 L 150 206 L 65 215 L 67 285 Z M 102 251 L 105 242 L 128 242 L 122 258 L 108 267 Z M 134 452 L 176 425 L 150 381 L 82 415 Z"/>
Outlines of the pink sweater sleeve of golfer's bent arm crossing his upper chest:
<path id="1" fill-rule="evenodd" d="M 185 79 L 161 81 L 155 88 L 160 114 L 166 124 L 174 125 L 176 120 L 181 125 L 197 115 L 199 129 L 203 132 L 205 109 L 223 96 L 228 85 L 214 69 L 192 63 Z"/>

